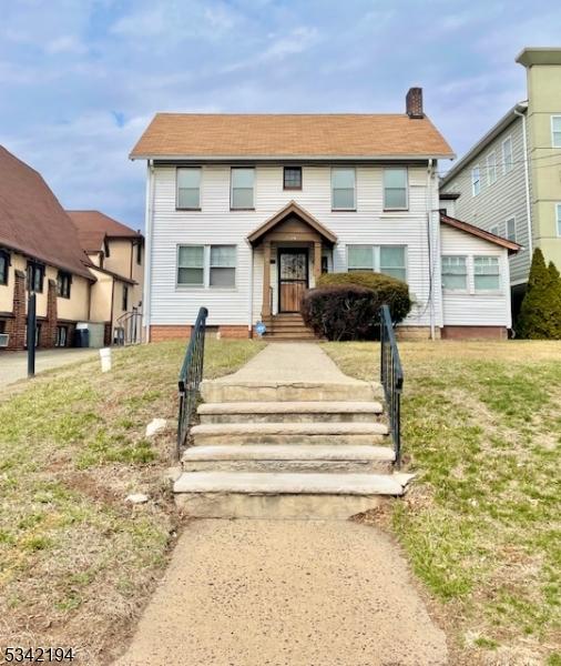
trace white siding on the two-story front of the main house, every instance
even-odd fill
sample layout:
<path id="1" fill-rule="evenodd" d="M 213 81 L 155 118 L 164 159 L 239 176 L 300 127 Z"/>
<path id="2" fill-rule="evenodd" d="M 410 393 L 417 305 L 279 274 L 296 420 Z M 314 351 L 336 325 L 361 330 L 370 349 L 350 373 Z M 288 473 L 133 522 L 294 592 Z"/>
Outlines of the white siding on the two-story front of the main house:
<path id="1" fill-rule="evenodd" d="M 329 167 L 304 167 L 303 190 L 283 190 L 283 168 L 259 165 L 255 174 L 255 210 L 230 210 L 230 167 L 203 167 L 201 211 L 175 210 L 175 168 L 154 168 L 152 225 L 152 324 L 181 324 L 193 321 L 201 305 L 208 307 L 211 325 L 247 324 L 249 303 L 249 262 L 252 250 L 246 236 L 278 210 L 295 200 L 338 236 L 334 248 L 334 270 L 345 271 L 347 244 L 407 245 L 407 271 L 411 293 L 417 301 L 405 323 L 428 325 L 430 293 L 428 268 L 427 210 L 438 208 L 438 188 L 432 182 L 432 201 L 427 202 L 426 168 L 409 169 L 409 211 L 382 212 L 382 169 L 357 167 L 356 212 L 333 212 Z M 436 325 L 441 325 L 440 269 L 438 263 L 439 225 L 432 213 L 435 242 Z M 177 244 L 237 245 L 236 287 L 213 290 L 178 287 L 176 281 Z M 276 266 L 273 266 L 273 269 Z M 262 306 L 263 255 L 254 256 L 253 320 Z M 272 281 L 274 284 L 275 281 Z"/>

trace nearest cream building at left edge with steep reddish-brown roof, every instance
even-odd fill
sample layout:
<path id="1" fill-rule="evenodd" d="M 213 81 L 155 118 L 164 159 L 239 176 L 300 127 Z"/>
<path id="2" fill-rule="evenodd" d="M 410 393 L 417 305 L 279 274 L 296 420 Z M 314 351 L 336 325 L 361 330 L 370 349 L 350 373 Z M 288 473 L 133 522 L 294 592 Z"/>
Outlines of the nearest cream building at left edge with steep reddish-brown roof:
<path id="1" fill-rule="evenodd" d="M 0 147 L 2 349 L 26 347 L 28 286 L 37 293 L 35 344 L 72 344 L 76 324 L 89 320 L 95 281 L 89 263 L 70 218 L 41 175 Z"/>

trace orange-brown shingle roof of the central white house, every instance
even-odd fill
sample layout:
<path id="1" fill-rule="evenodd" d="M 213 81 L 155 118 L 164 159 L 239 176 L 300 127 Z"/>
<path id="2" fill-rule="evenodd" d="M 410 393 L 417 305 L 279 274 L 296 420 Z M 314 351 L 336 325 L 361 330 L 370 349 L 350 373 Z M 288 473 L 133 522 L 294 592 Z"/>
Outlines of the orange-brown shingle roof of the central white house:
<path id="1" fill-rule="evenodd" d="M 394 114 L 157 113 L 131 158 L 452 158 L 430 120 Z"/>

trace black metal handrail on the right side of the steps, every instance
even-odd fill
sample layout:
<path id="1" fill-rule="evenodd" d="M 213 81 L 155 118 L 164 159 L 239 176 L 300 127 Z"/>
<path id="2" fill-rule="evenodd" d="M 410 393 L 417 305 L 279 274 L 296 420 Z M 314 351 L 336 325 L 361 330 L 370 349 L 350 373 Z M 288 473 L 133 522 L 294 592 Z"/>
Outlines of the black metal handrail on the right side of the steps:
<path id="1" fill-rule="evenodd" d="M 389 418 L 389 432 L 394 442 L 396 466 L 401 463 L 401 391 L 404 371 L 391 314 L 387 305 L 380 307 L 380 382 L 384 387 Z"/>

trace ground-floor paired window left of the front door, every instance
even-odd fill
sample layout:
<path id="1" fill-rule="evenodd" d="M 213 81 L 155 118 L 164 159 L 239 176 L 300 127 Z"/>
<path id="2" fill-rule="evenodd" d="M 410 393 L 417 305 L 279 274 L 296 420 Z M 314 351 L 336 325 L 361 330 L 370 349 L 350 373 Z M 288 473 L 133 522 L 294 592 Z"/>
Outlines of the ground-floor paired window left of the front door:
<path id="1" fill-rule="evenodd" d="M 177 286 L 234 289 L 235 245 L 178 245 Z"/>

